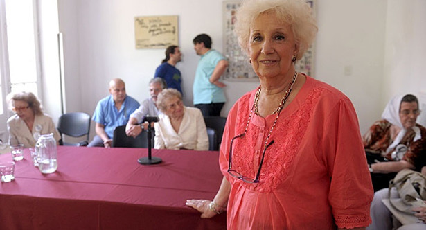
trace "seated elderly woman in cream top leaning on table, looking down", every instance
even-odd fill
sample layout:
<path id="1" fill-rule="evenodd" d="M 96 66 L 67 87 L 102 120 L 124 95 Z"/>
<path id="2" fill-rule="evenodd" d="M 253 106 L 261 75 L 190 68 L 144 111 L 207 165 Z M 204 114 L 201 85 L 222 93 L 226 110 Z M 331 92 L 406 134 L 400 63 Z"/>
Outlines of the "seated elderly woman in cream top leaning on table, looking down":
<path id="1" fill-rule="evenodd" d="M 172 150 L 208 150 L 208 136 L 199 109 L 185 107 L 182 95 L 176 89 L 163 89 L 157 98 L 157 107 L 163 114 L 154 123 L 154 148 Z"/>

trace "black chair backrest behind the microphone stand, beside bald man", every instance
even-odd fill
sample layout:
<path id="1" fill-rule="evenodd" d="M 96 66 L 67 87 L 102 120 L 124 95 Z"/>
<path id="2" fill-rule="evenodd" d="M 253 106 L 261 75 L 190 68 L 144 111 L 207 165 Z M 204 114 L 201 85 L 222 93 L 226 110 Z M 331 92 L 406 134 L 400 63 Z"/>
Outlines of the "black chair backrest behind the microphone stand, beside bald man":
<path id="1" fill-rule="evenodd" d="M 133 138 L 126 135 L 125 128 L 125 125 L 116 127 L 112 137 L 112 147 L 148 148 L 148 130 L 142 131 L 136 138 Z M 152 130 L 152 148 L 154 148 L 154 135 L 155 132 Z"/>

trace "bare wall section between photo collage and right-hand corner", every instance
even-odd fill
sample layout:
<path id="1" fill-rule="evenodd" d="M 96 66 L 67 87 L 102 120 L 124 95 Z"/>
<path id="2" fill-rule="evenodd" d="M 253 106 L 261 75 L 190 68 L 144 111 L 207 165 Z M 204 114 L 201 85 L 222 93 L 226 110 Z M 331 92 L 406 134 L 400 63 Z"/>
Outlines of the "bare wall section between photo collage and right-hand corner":
<path id="1" fill-rule="evenodd" d="M 380 118 L 387 1 L 318 1 L 315 77 L 352 100 L 364 133 Z M 345 72 L 346 71 L 346 72 Z"/>

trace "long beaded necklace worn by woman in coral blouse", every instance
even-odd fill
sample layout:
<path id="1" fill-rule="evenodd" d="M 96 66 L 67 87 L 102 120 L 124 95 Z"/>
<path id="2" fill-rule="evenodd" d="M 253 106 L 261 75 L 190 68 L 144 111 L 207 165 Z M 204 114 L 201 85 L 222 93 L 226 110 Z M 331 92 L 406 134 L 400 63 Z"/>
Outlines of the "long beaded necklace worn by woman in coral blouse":
<path id="1" fill-rule="evenodd" d="M 285 91 L 285 94 L 284 94 L 284 96 L 283 96 L 283 99 L 281 99 L 281 103 L 280 103 L 280 105 L 278 105 L 278 107 L 277 107 L 277 108 L 275 109 L 275 111 L 272 113 L 272 114 L 276 114 L 276 118 L 275 118 L 274 123 L 272 124 L 271 130 L 269 130 L 269 133 L 268 133 L 268 135 L 267 135 L 267 138 L 265 139 L 265 147 L 264 147 L 264 148 L 266 148 L 266 146 L 267 146 L 267 141 L 269 140 L 269 136 L 271 136 L 271 134 L 272 134 L 272 130 L 274 130 L 274 127 L 275 127 L 276 121 L 278 121 L 278 117 L 280 116 L 281 110 L 283 110 L 284 104 L 285 104 L 285 102 L 287 101 L 288 96 L 289 96 L 289 95 L 290 95 L 290 93 L 292 92 L 292 88 L 293 88 L 294 82 L 296 82 L 296 78 L 297 78 L 297 71 L 296 71 L 296 72 L 294 72 L 293 80 L 292 80 L 292 82 L 290 82 L 290 84 L 288 85 L 288 89 L 287 89 L 287 91 Z M 247 128 L 249 127 L 249 123 L 250 123 L 250 120 L 251 120 L 251 114 L 253 113 L 253 108 L 254 108 L 254 113 L 255 113 L 255 114 L 257 114 L 257 115 L 259 115 L 259 114 L 258 114 L 258 103 L 259 103 L 260 90 L 261 90 L 261 88 L 260 88 L 260 85 L 259 85 L 258 90 L 256 91 L 256 94 L 254 95 L 254 103 L 253 103 L 253 107 L 251 107 L 250 114 L 249 114 L 249 118 L 247 119 L 247 124 L 246 124 L 246 126 L 245 126 L 245 131 L 244 131 L 244 133 L 246 133 L 246 132 L 247 132 Z"/>

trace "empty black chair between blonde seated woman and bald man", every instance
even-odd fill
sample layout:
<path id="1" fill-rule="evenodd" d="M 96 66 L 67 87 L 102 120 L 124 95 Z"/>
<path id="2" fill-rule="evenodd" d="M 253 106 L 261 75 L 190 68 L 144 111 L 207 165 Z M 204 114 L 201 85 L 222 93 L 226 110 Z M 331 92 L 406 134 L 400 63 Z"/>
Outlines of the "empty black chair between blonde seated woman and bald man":
<path id="1" fill-rule="evenodd" d="M 89 143 L 90 115 L 83 112 L 62 114 L 57 123 L 61 135 L 60 145 L 86 146 Z M 64 135 L 72 137 L 87 136 L 85 141 L 78 143 L 64 142 Z"/>

